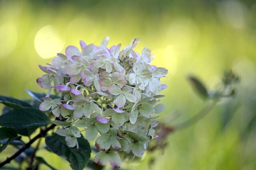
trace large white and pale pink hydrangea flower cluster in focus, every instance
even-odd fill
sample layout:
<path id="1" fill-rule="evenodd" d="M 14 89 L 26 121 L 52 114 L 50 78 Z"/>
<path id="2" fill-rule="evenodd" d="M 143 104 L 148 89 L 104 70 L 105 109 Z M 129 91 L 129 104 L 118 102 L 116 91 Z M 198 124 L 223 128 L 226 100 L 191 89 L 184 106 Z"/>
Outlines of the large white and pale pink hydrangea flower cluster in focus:
<path id="1" fill-rule="evenodd" d="M 39 65 L 46 74 L 37 82 L 49 90 L 40 110 L 66 118 L 53 121 L 62 127 L 56 133 L 65 136 L 66 144 L 79 147 L 76 138 L 81 137 L 81 128 L 88 140 L 100 134 L 95 142 L 100 152 L 94 163 L 110 162 L 119 168 L 116 152 L 142 156 L 148 142 L 157 137 L 154 127 L 158 122 L 153 115 L 164 110 L 163 104 L 156 103 L 164 97 L 158 94 L 167 87 L 160 78 L 168 71 L 149 64 L 154 59 L 150 49 L 144 47 L 141 54 L 134 51 L 140 39 L 122 50 L 121 44 L 108 49 L 108 40 L 105 37 L 100 46 L 80 41 L 81 51 L 68 46 L 66 55 L 58 53 L 52 64 Z M 61 99 L 50 97 L 52 89 Z"/>

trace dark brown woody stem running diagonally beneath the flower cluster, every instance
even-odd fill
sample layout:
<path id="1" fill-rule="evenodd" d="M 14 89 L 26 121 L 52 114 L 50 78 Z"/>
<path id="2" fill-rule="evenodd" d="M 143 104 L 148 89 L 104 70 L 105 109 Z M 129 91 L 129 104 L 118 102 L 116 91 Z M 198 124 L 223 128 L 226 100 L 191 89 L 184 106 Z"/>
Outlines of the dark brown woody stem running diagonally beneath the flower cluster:
<path id="1" fill-rule="evenodd" d="M 15 154 L 13 154 L 10 158 L 6 158 L 6 160 L 2 163 L 0 163 L 0 168 L 3 167 L 5 164 L 8 164 L 11 162 L 11 160 L 15 159 L 17 156 L 19 156 L 22 152 L 24 152 L 27 148 L 31 146 L 32 143 L 34 143 L 38 138 L 41 138 L 47 134 L 47 132 L 51 129 L 53 129 L 56 125 L 52 124 L 50 127 L 46 128 L 45 130 L 42 130 L 38 135 L 36 135 L 34 138 L 32 138 L 28 143 L 25 144 L 20 150 L 18 150 Z"/>

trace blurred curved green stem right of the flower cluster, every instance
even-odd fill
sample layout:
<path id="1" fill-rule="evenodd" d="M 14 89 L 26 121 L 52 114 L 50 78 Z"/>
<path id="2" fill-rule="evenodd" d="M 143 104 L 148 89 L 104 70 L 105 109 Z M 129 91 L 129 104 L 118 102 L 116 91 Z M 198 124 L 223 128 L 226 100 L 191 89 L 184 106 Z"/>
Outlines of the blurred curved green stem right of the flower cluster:
<path id="1" fill-rule="evenodd" d="M 175 131 L 175 130 L 184 129 L 189 127 L 190 125 L 193 125 L 194 123 L 197 123 L 198 121 L 200 121 L 200 119 L 205 117 L 212 110 L 212 108 L 216 105 L 216 103 L 217 101 L 210 101 L 198 114 L 196 114 L 191 119 L 188 119 L 188 121 L 175 125 L 173 127 L 173 130 Z"/>

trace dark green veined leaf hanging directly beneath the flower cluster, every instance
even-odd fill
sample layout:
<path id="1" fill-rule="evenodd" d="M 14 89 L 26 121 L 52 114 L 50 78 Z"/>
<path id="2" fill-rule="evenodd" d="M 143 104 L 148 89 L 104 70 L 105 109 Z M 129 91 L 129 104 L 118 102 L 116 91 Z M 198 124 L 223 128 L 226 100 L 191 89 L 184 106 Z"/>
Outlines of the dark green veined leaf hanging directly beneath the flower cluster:
<path id="1" fill-rule="evenodd" d="M 78 151 L 75 147 L 68 147 L 65 142 L 65 137 L 58 134 L 47 136 L 45 142 L 49 150 L 70 162 L 70 166 L 73 170 L 83 170 L 90 159 L 92 151 L 90 144 L 83 136 L 77 138 L 77 140 L 79 144 Z"/>

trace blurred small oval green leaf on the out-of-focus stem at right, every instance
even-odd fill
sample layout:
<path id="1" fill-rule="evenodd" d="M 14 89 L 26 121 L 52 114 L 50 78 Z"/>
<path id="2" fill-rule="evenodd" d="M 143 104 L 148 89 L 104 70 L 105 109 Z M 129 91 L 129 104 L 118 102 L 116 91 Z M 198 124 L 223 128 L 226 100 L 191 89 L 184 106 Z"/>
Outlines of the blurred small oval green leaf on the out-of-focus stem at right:
<path id="1" fill-rule="evenodd" d="M 188 77 L 188 80 L 190 81 L 192 87 L 194 90 L 204 99 L 208 98 L 208 91 L 206 87 L 203 85 L 203 83 L 198 80 L 196 77 Z"/>

